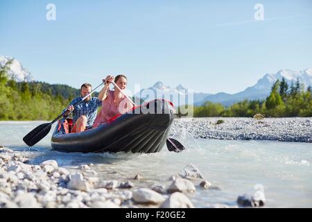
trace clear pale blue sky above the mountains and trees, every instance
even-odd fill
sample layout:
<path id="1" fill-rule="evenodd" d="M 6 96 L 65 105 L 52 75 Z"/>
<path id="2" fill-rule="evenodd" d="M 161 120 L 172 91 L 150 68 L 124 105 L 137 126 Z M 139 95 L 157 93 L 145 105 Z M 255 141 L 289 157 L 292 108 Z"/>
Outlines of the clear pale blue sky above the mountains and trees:
<path id="1" fill-rule="evenodd" d="M 46 5 L 56 20 L 46 20 Z M 254 20 L 261 3 L 264 21 Z M 266 73 L 312 68 L 312 1 L 0 0 L 0 55 L 36 80 L 80 87 L 107 74 L 150 87 L 242 91 Z"/>

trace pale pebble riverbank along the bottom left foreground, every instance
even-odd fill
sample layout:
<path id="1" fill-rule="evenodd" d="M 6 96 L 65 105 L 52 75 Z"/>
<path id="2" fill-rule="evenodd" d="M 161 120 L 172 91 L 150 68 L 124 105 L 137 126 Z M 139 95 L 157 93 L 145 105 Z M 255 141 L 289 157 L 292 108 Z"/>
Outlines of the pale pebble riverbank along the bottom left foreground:
<path id="1" fill-rule="evenodd" d="M 198 189 L 220 189 L 203 178 L 199 169 L 188 164 L 168 178 L 170 185 L 135 187 L 130 181 L 100 180 L 93 164 L 77 169 L 58 167 L 55 160 L 39 165 L 28 164 L 28 158 L 0 146 L 0 208 L 193 208 L 192 195 Z M 141 180 L 137 175 L 132 180 Z M 239 196 L 237 206 L 264 205 L 253 196 Z M 211 207 L 229 207 L 211 205 Z"/>

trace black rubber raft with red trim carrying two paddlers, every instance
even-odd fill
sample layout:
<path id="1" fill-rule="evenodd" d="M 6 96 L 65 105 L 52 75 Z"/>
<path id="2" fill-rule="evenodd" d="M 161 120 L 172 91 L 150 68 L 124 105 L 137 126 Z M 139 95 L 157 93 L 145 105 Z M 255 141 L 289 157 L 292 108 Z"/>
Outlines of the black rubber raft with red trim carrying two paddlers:
<path id="1" fill-rule="evenodd" d="M 51 145 L 62 152 L 157 153 L 162 150 L 173 122 L 173 104 L 156 99 L 81 133 L 68 133 L 68 121 L 55 127 Z"/>

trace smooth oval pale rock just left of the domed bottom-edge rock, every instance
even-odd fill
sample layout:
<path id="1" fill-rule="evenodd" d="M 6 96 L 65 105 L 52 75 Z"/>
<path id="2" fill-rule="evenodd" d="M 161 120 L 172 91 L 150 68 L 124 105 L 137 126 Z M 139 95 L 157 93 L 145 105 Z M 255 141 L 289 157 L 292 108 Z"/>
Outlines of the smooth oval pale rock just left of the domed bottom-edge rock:
<path id="1" fill-rule="evenodd" d="M 159 204 L 165 200 L 161 194 L 146 188 L 135 189 L 132 192 L 132 199 L 137 203 L 145 204 Z"/>

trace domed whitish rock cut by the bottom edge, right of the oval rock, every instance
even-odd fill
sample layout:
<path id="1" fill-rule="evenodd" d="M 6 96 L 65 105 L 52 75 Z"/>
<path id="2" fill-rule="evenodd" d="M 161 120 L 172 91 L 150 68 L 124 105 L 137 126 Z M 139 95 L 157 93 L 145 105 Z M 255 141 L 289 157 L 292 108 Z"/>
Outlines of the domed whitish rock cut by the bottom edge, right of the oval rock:
<path id="1" fill-rule="evenodd" d="M 165 201 L 160 205 L 161 208 L 194 208 L 191 200 L 180 192 L 171 194 Z"/>

